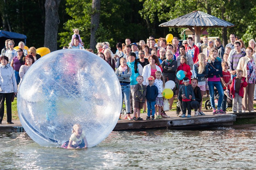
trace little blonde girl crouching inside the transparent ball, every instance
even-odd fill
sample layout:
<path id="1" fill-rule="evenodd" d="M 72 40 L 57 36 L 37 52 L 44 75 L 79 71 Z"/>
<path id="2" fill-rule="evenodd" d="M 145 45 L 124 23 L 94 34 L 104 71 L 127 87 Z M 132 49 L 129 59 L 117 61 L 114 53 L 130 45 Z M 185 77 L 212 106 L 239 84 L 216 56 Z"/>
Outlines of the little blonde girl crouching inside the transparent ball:
<path id="1" fill-rule="evenodd" d="M 82 130 L 82 127 L 80 124 L 76 123 L 73 126 L 72 135 L 69 139 L 69 141 L 66 141 L 61 146 L 65 149 L 76 149 L 76 148 L 87 148 L 88 142 L 85 138 L 85 133 Z"/>

